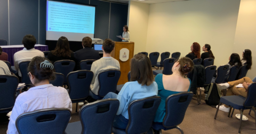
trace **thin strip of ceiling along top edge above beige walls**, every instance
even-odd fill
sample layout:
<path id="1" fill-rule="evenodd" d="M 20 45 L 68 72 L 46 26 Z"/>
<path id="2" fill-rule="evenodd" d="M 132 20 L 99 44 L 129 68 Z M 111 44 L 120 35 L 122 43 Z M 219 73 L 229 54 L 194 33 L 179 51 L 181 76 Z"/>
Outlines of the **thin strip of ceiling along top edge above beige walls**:
<path id="1" fill-rule="evenodd" d="M 118 2 L 128 4 L 129 1 L 155 4 L 155 3 L 164 3 L 164 2 L 179 2 L 179 1 L 189 1 L 189 0 L 146 0 L 146 1 L 138 1 L 138 0 L 102 0 L 102 1 L 110 1 L 110 2 Z"/>

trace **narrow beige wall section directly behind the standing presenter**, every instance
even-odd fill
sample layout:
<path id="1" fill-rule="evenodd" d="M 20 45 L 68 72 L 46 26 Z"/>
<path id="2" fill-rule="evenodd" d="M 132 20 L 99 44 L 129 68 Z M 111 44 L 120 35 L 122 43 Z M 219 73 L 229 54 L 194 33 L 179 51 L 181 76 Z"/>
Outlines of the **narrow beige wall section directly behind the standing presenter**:
<path id="1" fill-rule="evenodd" d="M 134 54 L 146 51 L 149 4 L 130 1 L 128 14 L 130 41 L 135 43 Z"/>

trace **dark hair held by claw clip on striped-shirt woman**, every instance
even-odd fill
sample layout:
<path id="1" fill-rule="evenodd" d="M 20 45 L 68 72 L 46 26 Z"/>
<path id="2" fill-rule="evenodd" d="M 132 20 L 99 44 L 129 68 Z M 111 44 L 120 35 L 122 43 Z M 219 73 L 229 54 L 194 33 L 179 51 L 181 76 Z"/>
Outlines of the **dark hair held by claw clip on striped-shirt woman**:
<path id="1" fill-rule="evenodd" d="M 55 74 L 54 69 L 51 68 L 41 68 L 40 64 L 45 60 L 49 61 L 45 57 L 36 56 L 32 58 L 31 62 L 28 65 L 28 72 L 30 72 L 36 78 L 36 83 L 42 80 L 54 80 Z M 51 63 L 51 61 L 49 61 Z"/>

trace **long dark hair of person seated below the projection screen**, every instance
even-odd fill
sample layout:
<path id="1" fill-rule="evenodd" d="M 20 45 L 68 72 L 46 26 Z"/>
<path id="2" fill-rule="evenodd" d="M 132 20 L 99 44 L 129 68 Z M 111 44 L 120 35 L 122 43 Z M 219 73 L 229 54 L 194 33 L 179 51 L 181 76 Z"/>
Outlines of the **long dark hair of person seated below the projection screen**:
<path id="1" fill-rule="evenodd" d="M 55 49 L 52 51 L 52 54 L 58 57 L 71 57 L 72 51 L 70 51 L 68 39 L 64 36 L 61 36 L 57 41 Z"/>

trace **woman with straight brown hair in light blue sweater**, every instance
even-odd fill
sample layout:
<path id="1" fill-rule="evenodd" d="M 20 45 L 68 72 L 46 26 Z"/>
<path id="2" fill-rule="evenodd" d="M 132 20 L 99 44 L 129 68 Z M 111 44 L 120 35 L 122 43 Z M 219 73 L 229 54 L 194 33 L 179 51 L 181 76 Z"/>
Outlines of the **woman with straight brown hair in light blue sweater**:
<path id="1" fill-rule="evenodd" d="M 136 99 L 151 96 L 157 96 L 157 83 L 154 81 L 151 62 L 144 54 L 134 55 L 131 59 L 131 81 L 125 83 L 118 95 L 110 92 L 103 98 L 117 98 L 120 102 L 113 126 L 125 129 L 129 122 L 129 104 Z"/>

